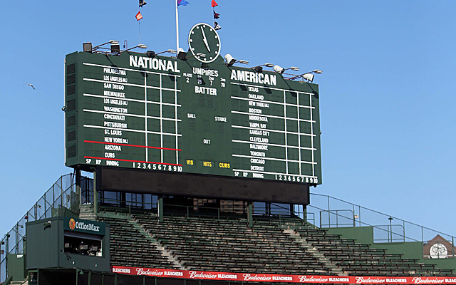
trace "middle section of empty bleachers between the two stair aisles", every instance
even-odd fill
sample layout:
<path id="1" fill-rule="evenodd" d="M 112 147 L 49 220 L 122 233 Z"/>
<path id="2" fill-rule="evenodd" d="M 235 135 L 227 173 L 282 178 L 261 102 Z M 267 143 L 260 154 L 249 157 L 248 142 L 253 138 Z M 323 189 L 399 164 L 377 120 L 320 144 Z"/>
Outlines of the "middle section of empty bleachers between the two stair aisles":
<path id="1" fill-rule="evenodd" d="M 331 274 L 277 224 L 250 228 L 237 220 L 133 217 L 189 270 Z"/>

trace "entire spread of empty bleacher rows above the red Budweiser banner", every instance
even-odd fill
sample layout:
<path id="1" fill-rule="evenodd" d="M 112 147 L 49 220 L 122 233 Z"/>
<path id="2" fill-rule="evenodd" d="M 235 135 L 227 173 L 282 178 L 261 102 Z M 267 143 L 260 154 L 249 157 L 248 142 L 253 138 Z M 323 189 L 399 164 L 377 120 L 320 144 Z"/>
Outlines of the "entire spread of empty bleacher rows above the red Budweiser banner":
<path id="1" fill-rule="evenodd" d="M 403 259 L 400 254 L 388 254 L 385 249 L 304 226 L 299 219 L 287 224 L 259 220 L 253 227 L 247 225 L 246 219 L 165 217 L 159 222 L 150 213 L 132 214 L 131 219 L 133 223 L 100 217 L 110 224 L 113 265 L 269 274 L 454 275 L 450 269 Z M 133 224 L 150 237 L 144 237 Z M 286 232 L 290 228 L 295 234 Z M 160 244 L 164 251 L 147 239 Z M 180 266 L 173 264 L 165 252 Z"/>

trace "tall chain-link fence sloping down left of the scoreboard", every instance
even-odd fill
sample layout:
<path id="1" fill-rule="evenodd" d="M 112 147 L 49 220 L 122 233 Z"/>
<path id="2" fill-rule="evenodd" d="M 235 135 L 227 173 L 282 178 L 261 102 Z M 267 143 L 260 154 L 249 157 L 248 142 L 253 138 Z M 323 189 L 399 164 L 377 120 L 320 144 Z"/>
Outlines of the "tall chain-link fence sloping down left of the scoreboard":
<path id="1" fill-rule="evenodd" d="M 26 222 L 52 217 L 52 209 L 66 207 L 78 209 L 79 197 L 73 173 L 62 175 L 58 180 L 28 209 L 14 227 L 4 234 L 0 242 L 0 282 L 6 280 L 7 254 L 23 254 L 26 239 Z"/>

